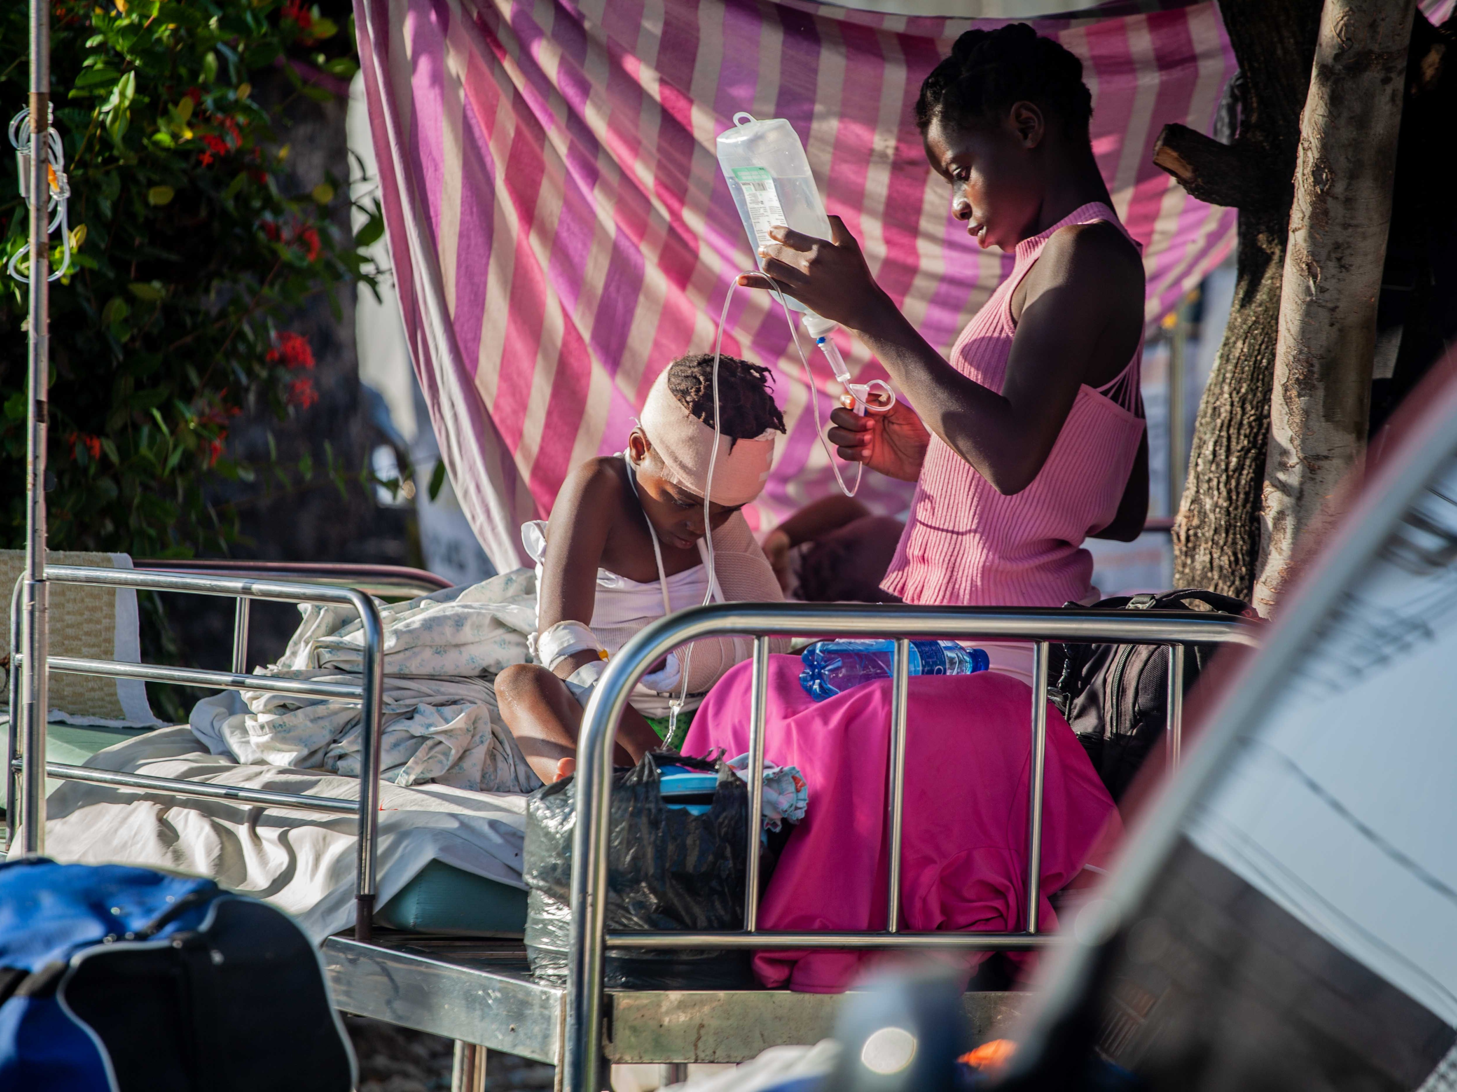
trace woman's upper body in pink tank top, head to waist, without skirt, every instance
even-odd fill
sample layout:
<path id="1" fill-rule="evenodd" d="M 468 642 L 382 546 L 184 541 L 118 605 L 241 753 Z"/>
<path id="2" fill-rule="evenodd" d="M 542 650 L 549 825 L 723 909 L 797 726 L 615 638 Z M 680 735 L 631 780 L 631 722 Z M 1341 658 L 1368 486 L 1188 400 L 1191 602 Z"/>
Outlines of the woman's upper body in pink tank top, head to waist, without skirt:
<path id="1" fill-rule="evenodd" d="M 1148 508 L 1138 393 L 1144 266 L 1088 143 L 1083 64 L 1030 26 L 970 31 L 916 102 L 931 167 L 982 248 L 1016 255 L 944 360 L 833 240 L 788 229 L 766 275 L 855 331 L 905 400 L 836 409 L 842 459 L 916 482 L 884 588 L 908 603 L 1061 606 L 1093 594 L 1093 534 L 1131 540 Z"/>

